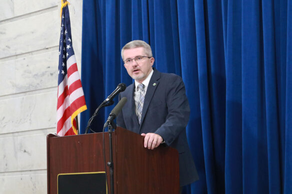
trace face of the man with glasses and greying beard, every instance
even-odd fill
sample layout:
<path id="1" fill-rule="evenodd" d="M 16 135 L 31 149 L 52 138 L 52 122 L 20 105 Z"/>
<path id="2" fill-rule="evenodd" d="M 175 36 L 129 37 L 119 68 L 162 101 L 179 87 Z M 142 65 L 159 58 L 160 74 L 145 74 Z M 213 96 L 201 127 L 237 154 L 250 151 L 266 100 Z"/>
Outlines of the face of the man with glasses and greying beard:
<path id="1" fill-rule="evenodd" d="M 123 51 L 123 59 L 132 59 L 136 56 L 146 56 L 143 47 L 129 48 Z M 154 63 L 154 58 L 143 57 L 142 60 L 136 62 L 132 60 L 131 64 L 124 63 L 129 76 L 139 83 L 142 83 L 144 79 L 149 75 L 152 70 L 152 65 Z"/>

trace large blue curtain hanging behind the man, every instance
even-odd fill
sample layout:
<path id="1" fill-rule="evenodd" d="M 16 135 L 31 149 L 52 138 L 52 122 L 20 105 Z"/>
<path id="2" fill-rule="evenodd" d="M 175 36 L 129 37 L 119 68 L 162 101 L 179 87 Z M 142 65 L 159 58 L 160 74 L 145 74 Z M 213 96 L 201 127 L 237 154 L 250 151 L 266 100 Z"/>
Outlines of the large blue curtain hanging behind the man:
<path id="1" fill-rule="evenodd" d="M 132 83 L 120 49 L 141 39 L 154 66 L 185 83 L 200 179 L 183 193 L 291 194 L 291 33 L 291 0 L 86 0 L 80 131 L 118 83 Z"/>

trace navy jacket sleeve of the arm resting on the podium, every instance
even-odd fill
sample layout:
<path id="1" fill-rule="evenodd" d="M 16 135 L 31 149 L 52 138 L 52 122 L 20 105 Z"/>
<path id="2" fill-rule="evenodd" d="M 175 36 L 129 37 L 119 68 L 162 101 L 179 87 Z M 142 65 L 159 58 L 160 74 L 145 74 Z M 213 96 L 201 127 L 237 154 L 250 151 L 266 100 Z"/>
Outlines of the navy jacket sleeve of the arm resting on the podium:
<path id="1" fill-rule="evenodd" d="M 167 116 L 165 122 L 155 131 L 169 146 L 182 132 L 189 119 L 189 104 L 181 77 L 169 80 L 166 89 Z"/>

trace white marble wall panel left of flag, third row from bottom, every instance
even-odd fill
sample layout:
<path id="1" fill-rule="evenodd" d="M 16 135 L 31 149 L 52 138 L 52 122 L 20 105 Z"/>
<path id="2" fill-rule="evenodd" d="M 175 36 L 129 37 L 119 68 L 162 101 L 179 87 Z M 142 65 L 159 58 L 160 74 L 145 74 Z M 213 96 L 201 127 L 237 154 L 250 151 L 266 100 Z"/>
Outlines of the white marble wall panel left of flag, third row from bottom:
<path id="1" fill-rule="evenodd" d="M 0 134 L 56 126 L 55 92 L 0 100 Z"/>

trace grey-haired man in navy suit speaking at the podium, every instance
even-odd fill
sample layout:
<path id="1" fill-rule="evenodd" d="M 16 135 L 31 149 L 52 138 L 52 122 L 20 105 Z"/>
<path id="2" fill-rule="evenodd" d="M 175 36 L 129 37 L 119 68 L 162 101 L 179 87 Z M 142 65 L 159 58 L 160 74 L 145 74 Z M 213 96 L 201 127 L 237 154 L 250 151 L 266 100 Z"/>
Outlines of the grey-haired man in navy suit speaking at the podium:
<path id="1" fill-rule="evenodd" d="M 144 136 L 147 149 L 160 144 L 175 148 L 180 187 L 198 180 L 186 139 L 190 110 L 181 77 L 152 68 L 152 51 L 144 41 L 128 42 L 121 57 L 135 82 L 119 95 L 119 99 L 126 97 L 127 103 L 117 116 L 117 125 Z"/>

